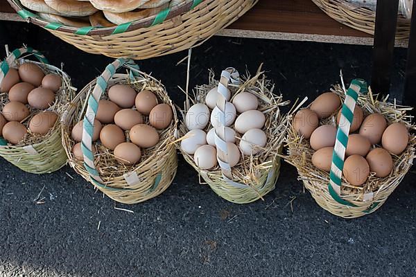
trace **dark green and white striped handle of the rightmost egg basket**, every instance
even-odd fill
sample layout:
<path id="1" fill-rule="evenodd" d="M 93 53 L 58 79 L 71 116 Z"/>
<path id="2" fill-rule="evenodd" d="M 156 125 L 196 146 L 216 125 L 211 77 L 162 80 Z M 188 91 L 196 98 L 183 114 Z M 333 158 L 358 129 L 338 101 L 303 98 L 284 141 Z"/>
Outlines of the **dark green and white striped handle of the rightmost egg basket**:
<path id="1" fill-rule="evenodd" d="M 345 124 L 338 125 L 335 146 L 333 147 L 331 172 L 329 173 L 328 185 L 329 194 L 336 202 L 352 207 L 355 207 L 356 205 L 341 197 L 341 186 L 343 184 L 342 177 L 345 149 L 348 144 L 349 127 L 351 127 L 352 120 L 354 119 L 354 109 L 359 93 L 367 93 L 367 83 L 361 79 L 352 80 L 341 109 L 340 122 Z"/>

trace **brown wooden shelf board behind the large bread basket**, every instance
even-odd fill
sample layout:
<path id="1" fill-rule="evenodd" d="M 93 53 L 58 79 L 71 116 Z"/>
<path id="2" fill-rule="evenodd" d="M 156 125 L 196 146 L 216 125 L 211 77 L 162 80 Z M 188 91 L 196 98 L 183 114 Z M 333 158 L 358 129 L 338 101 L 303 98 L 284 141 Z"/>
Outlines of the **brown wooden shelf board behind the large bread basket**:
<path id="1" fill-rule="evenodd" d="M 6 0 L 0 19 L 23 21 Z M 372 36 L 331 19 L 311 0 L 259 0 L 252 10 L 217 35 L 372 45 Z M 397 43 L 397 46 L 406 46 Z"/>

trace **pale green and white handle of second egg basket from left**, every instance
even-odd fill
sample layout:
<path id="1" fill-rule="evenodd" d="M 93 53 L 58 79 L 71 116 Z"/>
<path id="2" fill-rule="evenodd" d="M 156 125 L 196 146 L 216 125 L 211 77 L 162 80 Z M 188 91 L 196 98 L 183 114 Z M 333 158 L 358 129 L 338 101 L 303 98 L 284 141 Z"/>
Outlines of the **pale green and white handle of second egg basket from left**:
<path id="1" fill-rule="evenodd" d="M 83 122 L 83 141 L 81 143 L 81 149 L 83 150 L 84 155 L 84 167 L 85 170 L 89 173 L 89 176 L 92 177 L 92 181 L 97 186 L 104 186 L 103 180 L 100 177 L 100 173 L 96 170 L 94 165 L 94 154 L 92 153 L 92 136 L 94 134 L 94 119 L 98 111 L 98 102 L 101 99 L 101 96 L 107 89 L 107 84 L 109 80 L 114 76 L 118 69 L 121 67 L 127 67 L 130 69 L 130 78 L 132 76 L 139 75 L 139 66 L 135 64 L 133 60 L 119 58 L 108 64 L 105 67 L 103 73 L 96 79 L 96 85 L 91 95 L 88 98 L 87 111 L 85 112 L 84 122 Z"/>

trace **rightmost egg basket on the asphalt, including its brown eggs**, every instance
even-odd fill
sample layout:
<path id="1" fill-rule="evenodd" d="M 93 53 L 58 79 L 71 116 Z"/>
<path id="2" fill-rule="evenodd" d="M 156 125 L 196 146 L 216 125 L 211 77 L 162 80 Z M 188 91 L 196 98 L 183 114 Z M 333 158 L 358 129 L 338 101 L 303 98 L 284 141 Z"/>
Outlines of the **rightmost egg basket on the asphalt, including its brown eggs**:
<path id="1" fill-rule="evenodd" d="M 412 166 L 415 126 L 406 114 L 412 108 L 387 100 L 353 80 L 349 89 L 336 85 L 293 117 L 286 159 L 334 215 L 376 211 Z"/>

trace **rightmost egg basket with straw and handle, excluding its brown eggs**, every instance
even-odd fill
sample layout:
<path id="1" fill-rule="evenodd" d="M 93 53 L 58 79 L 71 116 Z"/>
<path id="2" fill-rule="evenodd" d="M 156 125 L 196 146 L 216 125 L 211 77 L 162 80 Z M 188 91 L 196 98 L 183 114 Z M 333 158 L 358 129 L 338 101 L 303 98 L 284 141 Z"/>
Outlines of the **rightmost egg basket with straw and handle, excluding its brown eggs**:
<path id="1" fill-rule="evenodd" d="M 362 93 L 358 93 L 358 91 L 360 91 L 358 85 L 361 86 Z M 346 94 L 348 96 L 354 95 L 352 90 L 358 93 L 356 103 L 363 109 L 364 116 L 374 113 L 383 114 L 388 124 L 401 122 L 404 123 L 408 129 L 415 129 L 414 125 L 410 123 L 410 116 L 406 115 L 406 111 L 410 111 L 412 108 L 386 102 L 387 98 L 378 98 L 379 96 L 372 94 L 371 89 L 368 89 L 368 93 L 365 94 L 367 91 L 365 82 L 360 84 L 360 81 L 357 82 L 357 80 L 354 80 L 347 93 L 345 93 L 339 85 L 336 85 L 331 89 L 333 93 L 336 93 L 343 100 L 345 100 Z M 344 106 L 350 104 L 351 101 L 349 104 L 346 102 Z M 345 114 L 344 109 L 345 107 L 343 107 L 343 114 Z M 351 111 L 353 109 L 354 108 L 349 110 Z M 335 125 L 337 114 L 338 111 L 329 118 L 322 119 L 320 123 Z M 343 119 L 341 120 L 342 122 L 346 122 Z M 345 129 L 347 129 L 348 132 L 349 125 L 346 125 Z M 345 133 L 345 130 L 338 128 L 333 157 L 335 157 L 335 155 L 344 157 L 343 153 L 338 153 L 342 149 L 340 144 L 338 144 L 341 141 L 338 140 L 342 135 L 340 133 L 347 134 Z M 340 178 L 340 176 L 338 176 L 340 173 L 338 175 L 336 173 L 330 175 L 328 172 L 324 172 L 313 166 L 311 157 L 314 151 L 312 150 L 311 145 L 309 145 L 309 140 L 304 139 L 303 136 L 299 136 L 297 132 L 295 132 L 295 129 L 293 129 L 293 126 L 291 126 L 288 131 L 288 157 L 286 157 L 286 159 L 297 168 L 299 179 L 303 181 L 304 186 L 309 190 L 312 197 L 322 208 L 333 215 L 354 218 L 372 213 L 383 205 L 385 200 L 387 200 L 388 196 L 400 184 L 401 180 L 412 166 L 413 157 L 415 157 L 415 145 L 416 137 L 413 134 L 410 134 L 406 150 L 399 156 L 392 154 L 393 170 L 390 172 L 390 175 L 379 178 L 375 177 L 374 173 L 371 173 L 363 187 L 359 188 L 349 184 L 344 177 Z M 343 159 L 340 161 L 343 161 Z M 340 165 L 340 163 L 333 160 L 331 172 L 337 172 L 339 167 L 336 167 L 336 165 Z M 342 172 L 342 168 L 340 168 L 340 170 Z M 337 179 L 339 181 L 337 181 Z"/>

